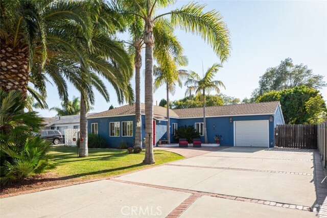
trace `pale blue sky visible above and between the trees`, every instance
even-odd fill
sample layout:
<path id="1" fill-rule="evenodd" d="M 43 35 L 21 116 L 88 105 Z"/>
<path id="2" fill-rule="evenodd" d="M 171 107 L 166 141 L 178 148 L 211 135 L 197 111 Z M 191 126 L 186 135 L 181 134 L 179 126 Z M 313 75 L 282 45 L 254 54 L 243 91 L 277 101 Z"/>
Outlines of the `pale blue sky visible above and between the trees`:
<path id="1" fill-rule="evenodd" d="M 158 11 L 167 12 L 188 4 L 190 1 L 178 1 L 173 7 Z M 303 63 L 314 74 L 324 76 L 327 81 L 327 1 L 199 1 L 206 4 L 205 11 L 218 10 L 230 31 L 231 53 L 216 75 L 226 89 L 221 93 L 239 99 L 249 98 L 254 88 L 258 87 L 259 78 L 266 69 L 279 65 L 285 58 L 292 58 L 294 64 Z M 200 36 L 176 30 L 184 55 L 189 65 L 183 69 L 193 70 L 202 75 L 214 63 L 220 63 L 211 47 Z M 121 34 L 123 40 L 128 34 Z M 144 52 L 143 52 L 143 60 Z M 141 72 L 144 70 L 145 63 Z M 141 101 L 144 102 L 144 77 L 141 76 Z M 115 92 L 108 82 L 110 102 L 106 103 L 96 92 L 94 110 L 105 111 L 112 104 L 119 107 Z M 135 78 L 131 84 L 135 87 Z M 177 88 L 170 100 L 184 98 L 186 88 Z M 49 108 L 60 106 L 56 87 L 47 86 Z M 327 100 L 327 87 L 320 90 Z M 79 96 L 79 92 L 69 85 L 70 99 Z M 154 104 L 166 98 L 165 87 L 154 93 Z M 56 112 L 38 110 L 44 117 L 55 116 Z"/>

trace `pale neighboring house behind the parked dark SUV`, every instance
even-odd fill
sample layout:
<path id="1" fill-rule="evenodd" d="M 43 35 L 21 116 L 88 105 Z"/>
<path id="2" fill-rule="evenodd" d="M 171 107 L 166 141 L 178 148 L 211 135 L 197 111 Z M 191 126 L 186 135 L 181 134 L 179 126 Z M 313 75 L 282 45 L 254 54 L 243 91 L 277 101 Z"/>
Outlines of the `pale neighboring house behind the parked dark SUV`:
<path id="1" fill-rule="evenodd" d="M 92 115 L 94 113 L 89 113 Z M 57 116 L 54 122 L 46 125 L 47 129 L 59 130 L 62 135 L 65 134 L 65 129 L 79 129 L 80 128 L 80 115 L 67 115 Z"/>

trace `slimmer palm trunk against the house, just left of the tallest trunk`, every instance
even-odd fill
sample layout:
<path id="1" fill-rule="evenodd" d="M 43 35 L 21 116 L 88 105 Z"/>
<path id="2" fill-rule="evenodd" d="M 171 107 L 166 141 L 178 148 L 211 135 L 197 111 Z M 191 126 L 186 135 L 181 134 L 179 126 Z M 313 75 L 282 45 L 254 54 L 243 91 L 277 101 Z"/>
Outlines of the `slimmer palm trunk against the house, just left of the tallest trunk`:
<path id="1" fill-rule="evenodd" d="M 135 49 L 135 142 L 134 149 L 142 149 L 142 119 L 141 119 L 141 49 Z M 139 125 L 137 125 L 139 124 Z M 137 151 L 135 149 L 135 151 Z"/>

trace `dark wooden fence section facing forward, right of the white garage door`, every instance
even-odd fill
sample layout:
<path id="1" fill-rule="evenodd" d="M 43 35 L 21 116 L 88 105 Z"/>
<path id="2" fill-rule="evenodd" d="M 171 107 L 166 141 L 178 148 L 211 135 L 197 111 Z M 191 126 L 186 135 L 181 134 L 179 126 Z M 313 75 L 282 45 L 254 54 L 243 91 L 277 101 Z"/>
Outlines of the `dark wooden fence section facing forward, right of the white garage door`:
<path id="1" fill-rule="evenodd" d="M 277 125 L 274 137 L 276 147 L 316 149 L 317 125 Z"/>

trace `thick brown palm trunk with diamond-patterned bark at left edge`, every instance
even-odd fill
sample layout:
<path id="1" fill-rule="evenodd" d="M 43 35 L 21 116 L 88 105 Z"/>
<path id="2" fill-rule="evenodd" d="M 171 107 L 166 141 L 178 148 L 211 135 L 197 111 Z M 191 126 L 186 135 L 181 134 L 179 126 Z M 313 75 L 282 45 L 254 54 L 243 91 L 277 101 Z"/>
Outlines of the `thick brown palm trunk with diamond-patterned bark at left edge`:
<path id="1" fill-rule="evenodd" d="M 19 90 L 26 97 L 29 82 L 28 48 L 17 49 L 2 43 L 0 53 L 0 87 L 4 91 Z"/>

